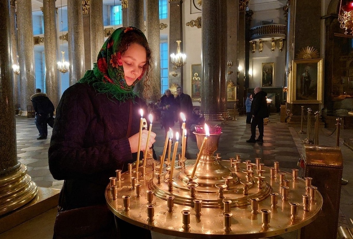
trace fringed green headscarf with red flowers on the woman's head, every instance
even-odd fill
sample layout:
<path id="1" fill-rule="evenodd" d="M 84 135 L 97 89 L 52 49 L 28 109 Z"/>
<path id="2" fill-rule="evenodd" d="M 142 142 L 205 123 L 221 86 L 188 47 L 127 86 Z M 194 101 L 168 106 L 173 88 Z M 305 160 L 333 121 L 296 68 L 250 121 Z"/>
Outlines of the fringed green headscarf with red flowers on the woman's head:
<path id="1" fill-rule="evenodd" d="M 110 96 L 119 101 L 133 100 L 137 95 L 137 93 L 133 92 L 133 88 L 141 80 L 146 68 L 144 66 L 142 74 L 131 86 L 127 85 L 119 48 L 122 36 L 132 30 L 146 39 L 143 32 L 137 27 L 120 27 L 116 29 L 104 42 L 98 54 L 97 63 L 94 63 L 93 70 L 86 71 L 85 75 L 77 83 L 90 83 L 97 92 L 107 93 L 108 97 Z"/>

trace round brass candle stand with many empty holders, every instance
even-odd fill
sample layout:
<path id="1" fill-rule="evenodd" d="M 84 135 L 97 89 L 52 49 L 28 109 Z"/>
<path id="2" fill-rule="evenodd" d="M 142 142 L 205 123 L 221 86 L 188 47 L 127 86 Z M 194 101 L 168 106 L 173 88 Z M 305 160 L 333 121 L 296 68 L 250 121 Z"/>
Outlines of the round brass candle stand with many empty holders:
<path id="1" fill-rule="evenodd" d="M 205 135 L 195 134 L 201 147 Z M 220 135 L 210 134 L 193 178 L 195 160 L 190 159 L 170 176 L 152 166 L 138 178 L 132 170 L 119 172 L 120 180 L 110 179 L 106 188 L 109 209 L 134 225 L 185 238 L 270 237 L 317 217 L 323 199 L 310 178 L 304 181 L 296 170 L 280 171 L 277 162 L 271 170 L 259 159 L 256 164 L 241 162 L 240 156 L 232 164 L 220 161 L 214 156 Z"/>

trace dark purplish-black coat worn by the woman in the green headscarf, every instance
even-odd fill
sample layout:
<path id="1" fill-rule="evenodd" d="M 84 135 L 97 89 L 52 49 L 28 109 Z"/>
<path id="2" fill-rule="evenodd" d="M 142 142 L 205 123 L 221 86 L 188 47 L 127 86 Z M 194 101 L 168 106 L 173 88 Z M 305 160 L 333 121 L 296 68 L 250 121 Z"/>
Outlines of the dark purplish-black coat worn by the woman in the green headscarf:
<path id="1" fill-rule="evenodd" d="M 147 113 L 145 102 L 135 101 L 130 136 L 139 131 L 139 109 Z M 109 177 L 136 161 L 126 137 L 130 102 L 108 99 L 86 83 L 65 90 L 56 109 L 48 152 L 53 177 L 65 180 L 65 209 L 105 203 Z"/>

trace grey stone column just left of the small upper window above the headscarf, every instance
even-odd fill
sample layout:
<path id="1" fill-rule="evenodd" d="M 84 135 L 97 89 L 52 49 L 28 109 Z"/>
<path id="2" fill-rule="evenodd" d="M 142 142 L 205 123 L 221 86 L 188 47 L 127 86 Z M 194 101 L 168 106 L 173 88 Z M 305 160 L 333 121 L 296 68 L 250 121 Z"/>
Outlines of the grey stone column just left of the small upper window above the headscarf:
<path id="1" fill-rule="evenodd" d="M 91 67 L 97 62 L 98 52 L 104 43 L 103 27 L 103 2 L 101 0 L 90 0 L 90 30 L 91 30 Z"/>

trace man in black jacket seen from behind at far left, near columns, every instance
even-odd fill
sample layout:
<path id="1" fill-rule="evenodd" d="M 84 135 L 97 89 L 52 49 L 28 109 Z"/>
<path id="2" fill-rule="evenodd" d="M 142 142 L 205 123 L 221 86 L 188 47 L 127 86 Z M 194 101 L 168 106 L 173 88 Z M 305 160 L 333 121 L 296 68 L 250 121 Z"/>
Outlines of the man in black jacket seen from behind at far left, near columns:
<path id="1" fill-rule="evenodd" d="M 33 108 L 36 112 L 35 123 L 39 131 L 40 137 L 37 139 L 47 139 L 48 136 L 48 119 L 53 117 L 54 105 L 49 100 L 46 93 L 42 93 L 41 89 L 36 89 L 36 94 L 31 96 Z"/>

